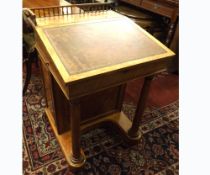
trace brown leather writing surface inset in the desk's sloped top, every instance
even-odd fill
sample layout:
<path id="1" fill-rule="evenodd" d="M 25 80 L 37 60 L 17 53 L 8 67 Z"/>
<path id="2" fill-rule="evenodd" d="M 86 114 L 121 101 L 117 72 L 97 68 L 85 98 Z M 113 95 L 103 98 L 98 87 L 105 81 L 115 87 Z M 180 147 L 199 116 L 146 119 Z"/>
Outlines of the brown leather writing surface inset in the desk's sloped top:
<path id="1" fill-rule="evenodd" d="M 45 28 L 44 32 L 70 75 L 166 52 L 127 20 Z"/>

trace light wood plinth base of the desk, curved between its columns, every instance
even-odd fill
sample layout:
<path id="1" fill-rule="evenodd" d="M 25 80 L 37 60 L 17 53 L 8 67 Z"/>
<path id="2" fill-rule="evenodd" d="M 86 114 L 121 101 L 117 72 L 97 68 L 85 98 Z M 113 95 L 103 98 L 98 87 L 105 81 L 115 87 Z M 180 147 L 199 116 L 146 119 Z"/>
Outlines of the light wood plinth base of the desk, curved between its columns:
<path id="1" fill-rule="evenodd" d="M 73 143 L 71 140 L 71 131 L 68 131 L 66 133 L 59 135 L 57 132 L 57 128 L 56 128 L 52 113 L 50 112 L 50 110 L 48 108 L 45 109 L 45 112 L 47 114 L 48 120 L 49 120 L 50 125 L 53 129 L 53 132 L 55 133 L 58 143 L 60 144 L 61 149 L 64 153 L 64 156 L 65 156 L 67 162 L 69 163 L 70 167 L 72 169 L 81 168 L 86 161 L 86 157 L 85 157 L 83 150 L 81 149 L 81 155 L 82 155 L 81 161 L 75 162 L 74 160 L 72 160 L 71 148 L 72 148 Z M 120 133 L 122 134 L 122 136 L 124 137 L 124 139 L 126 141 L 132 141 L 132 142 L 137 141 L 140 139 L 140 137 L 142 135 L 140 133 L 139 136 L 135 137 L 135 138 L 132 138 L 128 135 L 128 131 L 132 126 L 132 122 L 128 119 L 128 117 L 123 112 L 117 112 L 117 113 L 108 115 L 106 117 L 99 118 L 97 120 L 89 121 L 88 123 L 82 124 L 80 126 L 80 129 L 82 132 L 84 132 L 84 131 L 89 130 L 90 128 L 93 128 L 94 126 L 101 125 L 104 123 L 113 124 L 113 126 L 115 126 L 117 129 L 119 129 L 121 131 Z"/>

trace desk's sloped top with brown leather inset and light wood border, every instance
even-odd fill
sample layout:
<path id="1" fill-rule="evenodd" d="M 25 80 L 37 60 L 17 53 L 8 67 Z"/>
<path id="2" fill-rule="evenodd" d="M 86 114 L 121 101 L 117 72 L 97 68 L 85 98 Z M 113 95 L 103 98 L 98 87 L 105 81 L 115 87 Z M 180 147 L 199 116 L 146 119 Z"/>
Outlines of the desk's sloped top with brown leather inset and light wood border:
<path id="1" fill-rule="evenodd" d="M 133 21 L 113 11 L 48 17 L 37 19 L 37 24 L 38 50 L 44 46 L 45 62 L 63 85 L 174 55 Z"/>

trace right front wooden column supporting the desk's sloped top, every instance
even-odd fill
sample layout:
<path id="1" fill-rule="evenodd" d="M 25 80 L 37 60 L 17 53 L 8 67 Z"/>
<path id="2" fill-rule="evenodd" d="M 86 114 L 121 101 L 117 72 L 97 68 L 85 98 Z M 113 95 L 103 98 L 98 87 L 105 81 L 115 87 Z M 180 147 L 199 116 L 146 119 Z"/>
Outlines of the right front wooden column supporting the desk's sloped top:
<path id="1" fill-rule="evenodd" d="M 144 79 L 144 85 L 141 91 L 141 96 L 137 104 L 137 109 L 136 109 L 136 113 L 132 122 L 132 126 L 128 130 L 128 136 L 132 140 L 138 140 L 141 137 L 141 133 L 139 132 L 139 126 L 141 123 L 141 117 L 144 113 L 144 108 L 146 105 L 146 100 L 149 94 L 149 89 L 150 89 L 152 79 L 153 79 L 153 76 L 149 76 Z"/>

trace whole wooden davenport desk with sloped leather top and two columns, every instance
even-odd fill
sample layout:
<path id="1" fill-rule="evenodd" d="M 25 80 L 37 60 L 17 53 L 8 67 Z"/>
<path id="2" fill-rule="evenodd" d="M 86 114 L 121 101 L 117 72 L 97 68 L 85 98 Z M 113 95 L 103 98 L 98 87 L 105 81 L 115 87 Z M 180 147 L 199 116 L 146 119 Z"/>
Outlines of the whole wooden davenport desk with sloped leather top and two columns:
<path id="1" fill-rule="evenodd" d="M 93 126 L 111 123 L 127 141 L 138 140 L 152 76 L 170 68 L 174 53 L 112 10 L 36 17 L 36 23 L 45 112 L 70 167 L 84 165 L 80 134 Z M 121 109 L 126 82 L 137 77 L 145 81 L 131 122 Z"/>

